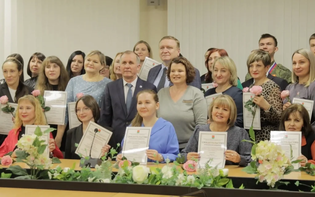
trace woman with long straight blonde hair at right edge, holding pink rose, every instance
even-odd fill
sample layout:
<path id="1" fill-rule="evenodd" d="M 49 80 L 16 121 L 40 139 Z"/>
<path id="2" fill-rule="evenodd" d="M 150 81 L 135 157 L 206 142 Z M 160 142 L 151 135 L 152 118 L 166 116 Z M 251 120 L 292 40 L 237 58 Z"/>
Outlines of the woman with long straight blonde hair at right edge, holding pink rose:
<path id="1" fill-rule="evenodd" d="M 293 98 L 314 100 L 315 99 L 315 56 L 308 49 L 299 49 L 292 55 L 292 84 L 286 90 L 289 90 L 289 99 Z M 291 105 L 288 99 L 283 101 L 283 110 Z M 312 125 L 315 125 L 314 119 L 315 105 L 310 117 Z"/>

